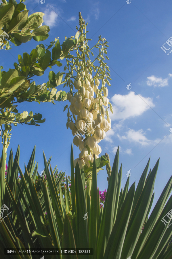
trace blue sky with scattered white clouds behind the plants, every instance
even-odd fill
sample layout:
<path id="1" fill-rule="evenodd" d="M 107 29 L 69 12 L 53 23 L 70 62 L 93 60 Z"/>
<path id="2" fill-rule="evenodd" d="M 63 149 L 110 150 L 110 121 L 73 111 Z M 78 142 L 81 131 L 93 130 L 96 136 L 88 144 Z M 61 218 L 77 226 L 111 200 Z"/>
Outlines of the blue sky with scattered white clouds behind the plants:
<path id="1" fill-rule="evenodd" d="M 130 2 L 130 0 L 129 0 Z M 123 163 L 122 186 L 127 180 L 126 173 L 131 170 L 130 185 L 138 180 L 151 156 L 150 167 L 154 167 L 160 157 L 158 174 L 155 182 L 156 200 L 171 176 L 172 134 L 172 53 L 167 55 L 172 46 L 164 45 L 169 51 L 161 49 L 172 36 L 171 1 L 136 1 L 130 4 L 123 1 L 49 1 L 41 4 L 36 0 L 26 0 L 30 14 L 43 12 L 43 25 L 50 27 L 49 38 L 37 43 L 33 39 L 21 46 L 1 51 L 1 65 L 4 70 L 13 68 L 18 54 L 30 53 L 38 44 L 49 45 L 55 37 L 60 43 L 64 37 L 74 36 L 78 25 L 78 12 L 88 23 L 89 46 L 102 35 L 109 42 L 108 66 L 112 86 L 108 87 L 108 98 L 114 102 L 112 130 L 101 141 L 102 153 L 109 153 L 111 166 L 116 148 L 120 145 L 120 163 Z M 170 41 L 169 41 L 170 44 Z M 65 61 L 62 60 L 65 64 Z M 55 66 L 55 73 L 59 70 Z M 61 69 L 63 70 L 63 68 Z M 42 77 L 35 77 L 37 84 L 48 81 L 48 68 Z M 127 85 L 131 83 L 131 90 Z M 58 86 L 58 90 L 63 89 Z M 65 89 L 65 88 L 64 88 Z M 67 89 L 66 89 L 67 90 Z M 47 159 L 52 155 L 52 166 L 70 174 L 70 144 L 73 139 L 70 129 L 66 129 L 67 112 L 63 112 L 65 103 L 37 104 L 22 103 L 20 112 L 31 110 L 41 113 L 46 118 L 40 127 L 18 125 L 13 127 L 9 148 L 16 152 L 20 144 L 20 165 L 28 163 L 34 145 L 39 172 L 44 168 L 44 150 Z M 63 153 L 64 152 L 64 153 Z M 74 147 L 74 158 L 79 148 Z M 9 151 L 7 156 L 9 155 Z M 119 164 L 120 166 L 120 164 Z M 98 173 L 98 186 L 101 191 L 107 189 L 106 169 Z"/>

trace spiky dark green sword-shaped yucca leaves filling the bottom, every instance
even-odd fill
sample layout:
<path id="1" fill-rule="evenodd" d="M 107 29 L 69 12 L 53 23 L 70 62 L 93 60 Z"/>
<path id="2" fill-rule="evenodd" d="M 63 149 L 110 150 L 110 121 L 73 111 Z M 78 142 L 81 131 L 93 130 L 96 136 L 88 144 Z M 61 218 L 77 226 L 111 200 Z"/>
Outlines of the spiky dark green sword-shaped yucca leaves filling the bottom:
<path id="1" fill-rule="evenodd" d="M 148 218 L 154 199 L 153 189 L 159 159 L 147 176 L 149 159 L 136 190 L 135 183 L 129 188 L 129 177 L 123 189 L 122 165 L 118 171 L 118 148 L 109 176 L 104 208 L 100 209 L 96 168 L 100 164 L 98 159 L 94 157 L 91 177 L 85 181 L 85 172 L 80 170 L 78 163 L 74 171 L 71 147 L 71 187 L 69 190 L 66 178 L 66 188 L 63 184 L 62 190 L 64 173 L 58 174 L 56 167 L 52 170 L 51 158 L 47 162 L 43 153 L 45 180 L 37 172 L 35 148 L 24 174 L 19 166 L 19 151 L 18 147 L 14 161 L 12 151 L 10 152 L 6 179 L 4 151 L 0 161 L 0 205 L 5 204 L 12 211 L 0 222 L 1 258 L 16 258 L 12 254 L 4 255 L 4 248 L 52 250 L 76 247 L 93 248 L 94 254 L 45 255 L 45 258 L 172 258 L 172 228 L 161 222 L 171 210 L 172 196 L 168 201 L 167 199 L 172 191 L 172 176 Z M 20 254 L 17 258 L 40 256 Z"/>

